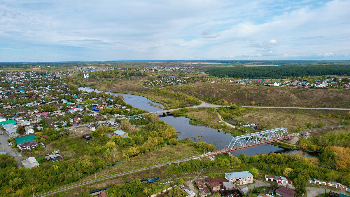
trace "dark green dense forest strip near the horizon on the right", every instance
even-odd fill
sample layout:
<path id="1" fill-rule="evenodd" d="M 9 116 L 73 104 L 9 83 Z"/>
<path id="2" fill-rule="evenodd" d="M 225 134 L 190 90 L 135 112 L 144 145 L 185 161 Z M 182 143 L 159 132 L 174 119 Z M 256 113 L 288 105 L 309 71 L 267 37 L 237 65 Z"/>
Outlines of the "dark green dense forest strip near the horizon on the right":
<path id="1" fill-rule="evenodd" d="M 260 67 L 210 67 L 209 75 L 217 77 L 252 78 L 252 79 L 283 79 L 300 76 L 350 75 L 350 65 L 339 66 L 260 66 Z"/>

